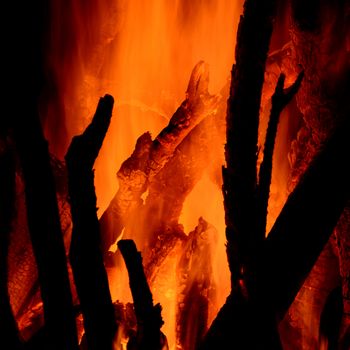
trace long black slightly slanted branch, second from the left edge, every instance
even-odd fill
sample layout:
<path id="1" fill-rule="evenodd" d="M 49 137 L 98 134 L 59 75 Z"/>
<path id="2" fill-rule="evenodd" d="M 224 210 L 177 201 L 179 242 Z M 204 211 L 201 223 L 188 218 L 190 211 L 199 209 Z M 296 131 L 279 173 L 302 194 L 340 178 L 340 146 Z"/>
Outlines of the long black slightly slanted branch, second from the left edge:
<path id="1" fill-rule="evenodd" d="M 21 6 L 11 4 L 6 10 L 10 17 L 15 14 L 22 34 L 20 42 L 9 35 L 9 45 L 4 48 L 12 53 L 6 64 L 5 76 L 8 73 L 9 79 L 5 90 L 9 93 L 4 105 L 12 119 L 25 186 L 28 228 L 44 304 L 44 346 L 53 350 L 75 350 L 78 341 L 67 260 L 48 144 L 41 129 L 38 107 L 45 83 L 43 52 L 48 33 L 48 6 L 47 0 L 39 0 L 31 4 L 21 3 Z M 25 59 L 23 52 L 26 53 Z"/>

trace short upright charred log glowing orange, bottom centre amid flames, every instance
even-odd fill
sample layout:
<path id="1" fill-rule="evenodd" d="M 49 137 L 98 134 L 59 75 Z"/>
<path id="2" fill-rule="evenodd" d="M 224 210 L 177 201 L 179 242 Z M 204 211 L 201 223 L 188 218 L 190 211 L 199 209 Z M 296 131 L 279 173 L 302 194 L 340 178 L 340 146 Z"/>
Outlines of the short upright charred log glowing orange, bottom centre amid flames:
<path id="1" fill-rule="evenodd" d="M 176 342 L 179 349 L 198 349 L 207 331 L 210 302 L 215 296 L 211 252 L 217 239 L 216 229 L 199 218 L 198 226 L 183 242 L 176 273 L 179 290 Z"/>

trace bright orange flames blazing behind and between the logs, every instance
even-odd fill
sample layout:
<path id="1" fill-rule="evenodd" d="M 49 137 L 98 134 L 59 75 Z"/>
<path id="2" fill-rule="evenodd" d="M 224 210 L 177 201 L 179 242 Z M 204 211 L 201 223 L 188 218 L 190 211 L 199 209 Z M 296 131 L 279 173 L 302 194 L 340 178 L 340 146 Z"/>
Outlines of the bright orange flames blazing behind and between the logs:
<path id="1" fill-rule="evenodd" d="M 227 86 L 242 4 L 242 0 L 106 0 L 65 4 L 70 6 L 67 9 L 61 2 L 53 2 L 48 69 L 57 94 L 43 103 L 46 134 L 53 152 L 65 153 L 71 137 L 89 122 L 98 96 L 108 92 L 116 99 L 112 123 L 95 164 L 99 215 L 118 189 L 115 173 L 132 153 L 137 138 L 146 131 L 154 138 L 184 100 L 195 64 L 200 60 L 209 64 L 211 93 L 220 94 Z M 67 33 L 72 34 L 67 37 Z M 225 105 L 227 95 L 221 99 Z M 64 127 L 55 135 L 55 125 L 62 116 Z M 222 158 L 215 159 L 219 175 L 207 172 L 201 177 L 186 198 L 179 219 L 187 234 L 199 217 L 217 230 L 218 238 L 211 242 L 216 296 L 209 322 L 230 287 L 220 175 L 224 135 L 217 142 L 222 146 Z M 273 180 L 275 199 L 270 203 L 274 208 L 270 210 L 269 226 L 286 198 L 286 190 L 281 192 L 286 188 L 286 167 L 284 164 L 275 176 L 277 180 Z M 142 240 L 145 227 L 137 229 L 141 237 L 137 239 Z M 156 302 L 160 301 L 164 309 L 163 332 L 170 347 L 175 344 L 176 259 L 168 258 L 151 286 Z M 113 299 L 131 302 L 126 271 L 111 270 L 109 278 Z"/>

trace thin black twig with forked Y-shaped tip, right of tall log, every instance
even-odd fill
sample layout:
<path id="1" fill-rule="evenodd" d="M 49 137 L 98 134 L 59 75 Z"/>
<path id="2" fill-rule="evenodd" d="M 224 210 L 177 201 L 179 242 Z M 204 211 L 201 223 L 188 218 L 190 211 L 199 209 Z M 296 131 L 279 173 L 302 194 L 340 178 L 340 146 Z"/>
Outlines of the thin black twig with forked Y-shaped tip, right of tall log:
<path id="1" fill-rule="evenodd" d="M 267 207 L 270 195 L 270 185 L 272 177 L 272 157 L 275 147 L 277 126 L 283 109 L 292 100 L 300 88 L 304 73 L 301 72 L 297 80 L 286 90 L 284 90 L 285 75 L 281 74 L 277 82 L 275 93 L 272 96 L 272 107 L 269 124 L 266 131 L 264 157 L 259 170 L 259 184 L 257 188 L 257 231 L 265 238 Z"/>

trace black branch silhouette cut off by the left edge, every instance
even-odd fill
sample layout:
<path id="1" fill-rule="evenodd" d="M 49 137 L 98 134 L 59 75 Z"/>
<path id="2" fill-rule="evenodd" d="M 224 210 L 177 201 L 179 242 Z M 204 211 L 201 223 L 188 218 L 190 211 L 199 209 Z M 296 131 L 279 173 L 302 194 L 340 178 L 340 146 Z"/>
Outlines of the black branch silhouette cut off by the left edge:
<path id="1" fill-rule="evenodd" d="M 4 141 L 4 142 L 3 142 Z M 0 139 L 0 339 L 2 346 L 20 350 L 17 323 L 8 294 L 7 256 L 15 212 L 15 160 L 8 142 Z"/>

